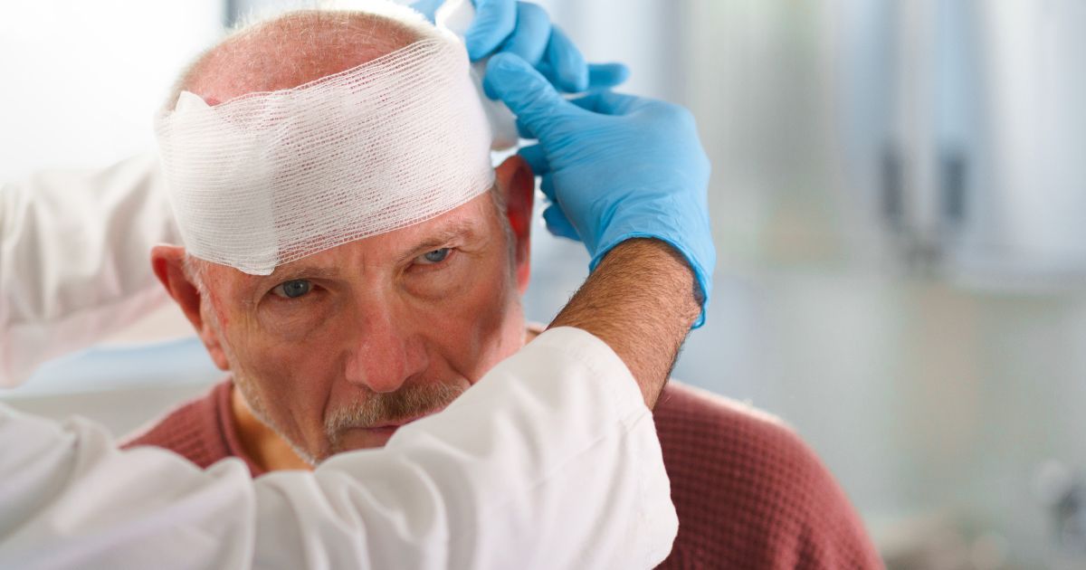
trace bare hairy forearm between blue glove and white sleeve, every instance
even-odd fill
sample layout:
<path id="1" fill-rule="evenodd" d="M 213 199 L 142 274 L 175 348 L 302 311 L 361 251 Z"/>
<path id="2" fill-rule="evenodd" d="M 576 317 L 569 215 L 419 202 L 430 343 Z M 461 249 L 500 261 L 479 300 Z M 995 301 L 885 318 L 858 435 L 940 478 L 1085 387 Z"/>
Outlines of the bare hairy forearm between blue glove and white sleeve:
<path id="1" fill-rule="evenodd" d="M 700 312 L 694 274 L 659 240 L 615 246 L 551 327 L 577 327 L 614 350 L 653 407 Z"/>

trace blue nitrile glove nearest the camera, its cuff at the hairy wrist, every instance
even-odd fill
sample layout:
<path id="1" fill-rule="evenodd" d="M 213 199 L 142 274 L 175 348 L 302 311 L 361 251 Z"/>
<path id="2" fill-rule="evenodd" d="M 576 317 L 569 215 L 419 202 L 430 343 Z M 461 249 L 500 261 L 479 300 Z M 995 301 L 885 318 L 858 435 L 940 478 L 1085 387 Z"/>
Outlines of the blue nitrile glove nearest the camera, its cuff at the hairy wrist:
<path id="1" fill-rule="evenodd" d="M 669 243 L 690 263 L 702 288 L 702 315 L 712 291 L 717 252 L 706 191 L 709 160 L 685 109 L 602 91 L 567 101 L 527 62 L 506 53 L 490 60 L 483 86 L 517 115 L 520 150 L 553 203 L 552 233 L 580 239 L 590 269 L 631 238 Z"/>

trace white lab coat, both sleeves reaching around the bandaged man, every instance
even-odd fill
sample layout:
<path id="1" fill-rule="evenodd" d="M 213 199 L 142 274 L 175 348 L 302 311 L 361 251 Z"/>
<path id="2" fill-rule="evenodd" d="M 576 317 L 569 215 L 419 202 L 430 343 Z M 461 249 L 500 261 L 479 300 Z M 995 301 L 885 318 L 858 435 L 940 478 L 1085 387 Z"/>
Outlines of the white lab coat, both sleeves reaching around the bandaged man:
<path id="1" fill-rule="evenodd" d="M 154 302 L 140 267 L 169 225 L 153 170 L 0 189 L 9 383 Z M 383 449 L 256 481 L 236 459 L 121 452 L 88 421 L 0 404 L 3 569 L 649 568 L 677 530 L 651 413 L 578 329 L 543 333 Z"/>

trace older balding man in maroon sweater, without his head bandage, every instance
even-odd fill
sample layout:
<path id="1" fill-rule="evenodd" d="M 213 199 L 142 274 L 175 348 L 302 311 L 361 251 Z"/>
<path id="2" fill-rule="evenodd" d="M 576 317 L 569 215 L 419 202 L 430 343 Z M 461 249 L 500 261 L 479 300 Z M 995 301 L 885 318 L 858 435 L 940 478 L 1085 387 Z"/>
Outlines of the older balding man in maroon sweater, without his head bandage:
<path id="1" fill-rule="evenodd" d="M 214 106 L 336 76 L 425 38 L 372 14 L 289 13 L 207 52 L 179 90 Z M 539 333 L 520 305 L 532 175 L 509 159 L 489 191 L 447 212 L 269 275 L 155 248 L 155 274 L 230 376 L 128 446 L 166 447 L 202 466 L 239 457 L 256 477 L 382 446 L 443 409 Z M 680 520 L 662 567 L 880 566 L 832 477 L 776 420 L 675 382 L 654 417 Z"/>

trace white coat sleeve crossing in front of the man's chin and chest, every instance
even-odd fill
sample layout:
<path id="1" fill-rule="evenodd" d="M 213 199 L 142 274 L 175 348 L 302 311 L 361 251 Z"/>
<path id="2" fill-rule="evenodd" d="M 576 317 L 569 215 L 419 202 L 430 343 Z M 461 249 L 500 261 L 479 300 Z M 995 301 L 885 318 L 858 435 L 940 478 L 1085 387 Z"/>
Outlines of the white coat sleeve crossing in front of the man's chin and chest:
<path id="1" fill-rule="evenodd" d="M 678 520 L 649 410 L 547 331 L 382 449 L 250 481 L 0 411 L 0 567 L 652 568 Z"/>

